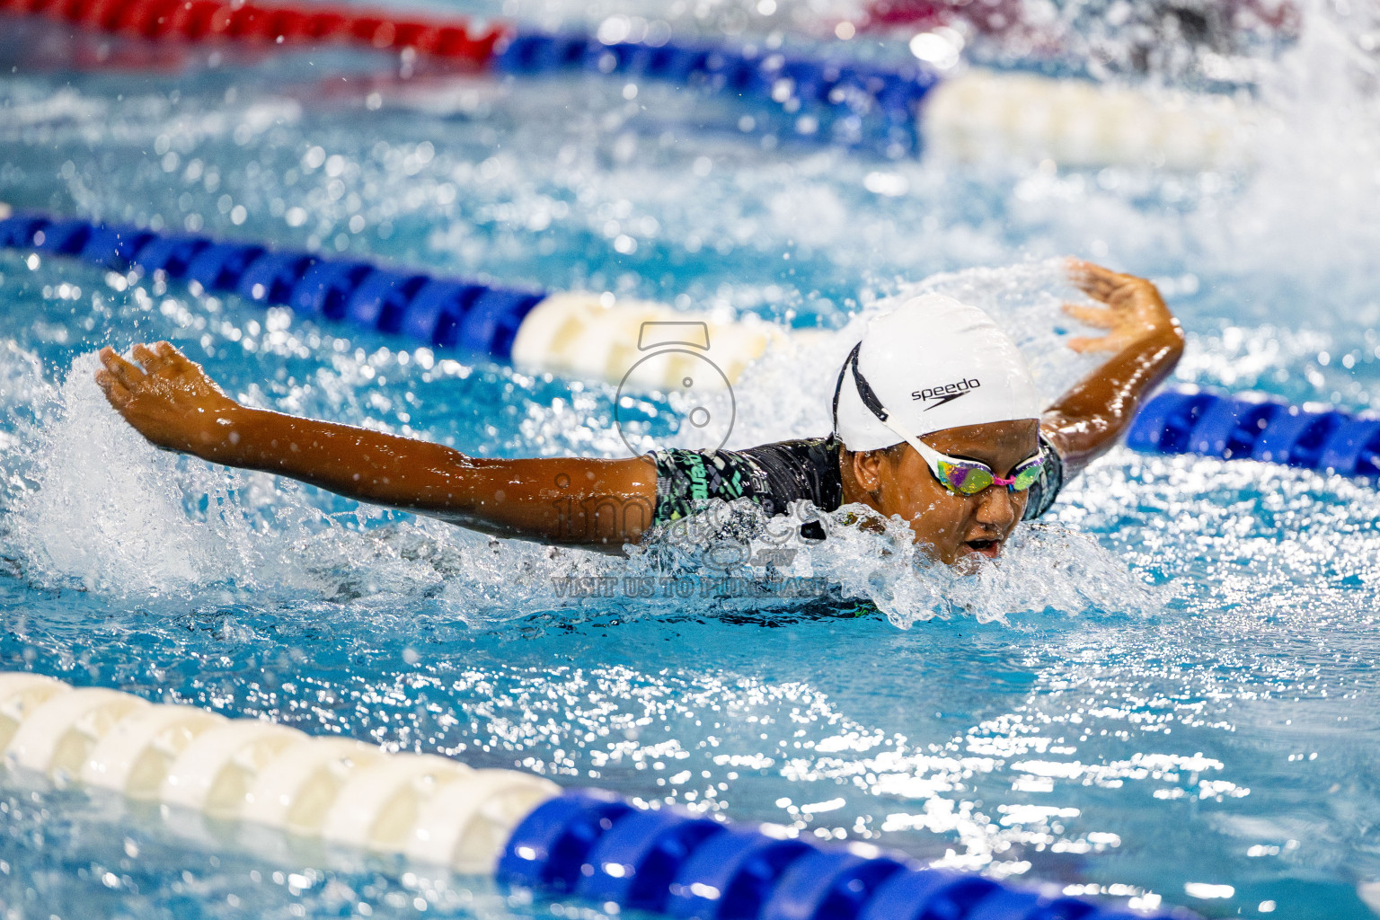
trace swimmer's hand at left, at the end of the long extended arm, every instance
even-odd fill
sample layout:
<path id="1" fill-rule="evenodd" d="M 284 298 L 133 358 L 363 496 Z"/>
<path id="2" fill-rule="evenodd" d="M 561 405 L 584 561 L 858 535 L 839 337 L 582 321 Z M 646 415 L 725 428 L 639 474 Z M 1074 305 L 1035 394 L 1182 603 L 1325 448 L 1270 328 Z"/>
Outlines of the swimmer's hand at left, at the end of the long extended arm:
<path id="1" fill-rule="evenodd" d="M 138 343 L 132 361 L 101 349 L 95 382 L 106 400 L 156 447 L 206 455 L 233 433 L 243 407 L 168 342 Z"/>

